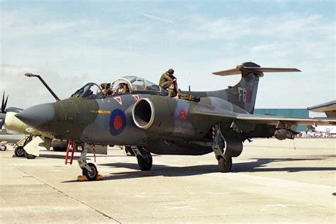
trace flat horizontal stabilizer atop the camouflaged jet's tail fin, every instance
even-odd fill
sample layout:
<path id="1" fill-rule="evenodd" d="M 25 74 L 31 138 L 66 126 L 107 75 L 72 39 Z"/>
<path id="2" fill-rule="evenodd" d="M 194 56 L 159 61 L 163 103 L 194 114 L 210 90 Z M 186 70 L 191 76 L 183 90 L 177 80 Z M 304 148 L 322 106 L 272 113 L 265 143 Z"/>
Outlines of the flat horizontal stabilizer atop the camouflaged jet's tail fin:
<path id="1" fill-rule="evenodd" d="M 262 74 L 262 72 L 301 72 L 299 69 L 295 68 L 277 68 L 277 67 L 245 67 L 244 65 L 237 65 L 235 69 L 224 70 L 220 72 L 213 72 L 220 76 L 241 74 L 242 72 L 257 72 Z"/>

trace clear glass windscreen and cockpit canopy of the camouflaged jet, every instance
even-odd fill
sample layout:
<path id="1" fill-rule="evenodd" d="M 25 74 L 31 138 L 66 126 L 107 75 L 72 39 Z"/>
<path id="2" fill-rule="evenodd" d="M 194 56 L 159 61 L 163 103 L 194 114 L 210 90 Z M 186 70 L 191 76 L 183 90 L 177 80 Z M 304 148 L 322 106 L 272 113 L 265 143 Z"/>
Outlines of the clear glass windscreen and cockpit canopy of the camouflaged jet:
<path id="1" fill-rule="evenodd" d="M 146 92 L 160 94 L 162 89 L 157 84 L 153 84 L 146 79 L 127 76 L 116 79 L 111 84 L 101 84 L 101 86 L 93 82 L 89 82 L 81 89 L 77 90 L 74 94 L 72 94 L 72 96 L 86 99 L 101 99 L 108 95 Z"/>

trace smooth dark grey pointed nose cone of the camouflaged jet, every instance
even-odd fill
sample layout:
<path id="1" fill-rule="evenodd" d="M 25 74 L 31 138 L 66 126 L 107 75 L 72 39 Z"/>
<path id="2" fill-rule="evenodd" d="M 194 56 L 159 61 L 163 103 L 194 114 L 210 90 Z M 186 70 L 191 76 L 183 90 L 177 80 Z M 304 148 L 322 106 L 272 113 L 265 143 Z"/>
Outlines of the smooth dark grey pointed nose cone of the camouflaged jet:
<path id="1" fill-rule="evenodd" d="M 55 110 L 52 104 L 44 103 L 26 108 L 26 110 L 17 113 L 16 117 L 23 121 L 23 123 L 39 130 L 39 127 L 52 121 L 52 118 L 54 118 Z"/>

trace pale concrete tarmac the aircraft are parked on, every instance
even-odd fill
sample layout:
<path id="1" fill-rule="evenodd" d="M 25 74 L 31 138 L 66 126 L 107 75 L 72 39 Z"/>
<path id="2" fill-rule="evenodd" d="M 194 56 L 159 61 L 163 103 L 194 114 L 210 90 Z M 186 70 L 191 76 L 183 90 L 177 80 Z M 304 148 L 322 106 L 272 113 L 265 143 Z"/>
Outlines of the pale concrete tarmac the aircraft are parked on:
<path id="1" fill-rule="evenodd" d="M 1 223 L 336 223 L 336 140 L 254 139 L 218 172 L 213 153 L 96 157 L 102 181 L 76 181 L 65 152 L 0 152 Z M 75 159 L 79 153 L 75 153 Z M 94 162 L 94 157 L 89 157 Z"/>

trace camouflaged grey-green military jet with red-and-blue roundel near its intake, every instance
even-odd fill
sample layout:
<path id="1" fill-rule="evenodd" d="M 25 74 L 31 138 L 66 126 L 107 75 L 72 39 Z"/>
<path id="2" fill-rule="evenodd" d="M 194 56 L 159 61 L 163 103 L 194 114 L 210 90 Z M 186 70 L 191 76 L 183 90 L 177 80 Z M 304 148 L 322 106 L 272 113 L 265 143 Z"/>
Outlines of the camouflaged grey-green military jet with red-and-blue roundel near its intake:
<path id="1" fill-rule="evenodd" d="M 96 179 L 98 174 L 94 164 L 86 163 L 87 149 L 94 145 L 128 146 L 141 170 L 151 169 L 151 153 L 214 152 L 220 171 L 230 172 L 232 157 L 241 154 L 245 140 L 273 136 L 279 140 L 293 139 L 298 124 L 336 123 L 328 118 L 254 115 L 259 78 L 264 72 L 301 71 L 245 62 L 235 69 L 213 73 L 241 74 L 235 86 L 185 92 L 200 97 L 199 102 L 170 98 L 166 89 L 141 77 L 122 77 L 111 84 L 112 95 L 104 96 L 99 85 L 88 83 L 69 99 L 33 106 L 16 116 L 37 130 L 82 145 L 84 150 L 78 162 L 89 180 Z M 118 91 L 118 86 L 123 86 L 124 91 Z"/>

